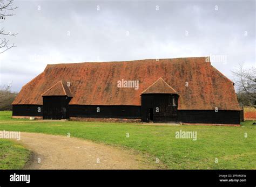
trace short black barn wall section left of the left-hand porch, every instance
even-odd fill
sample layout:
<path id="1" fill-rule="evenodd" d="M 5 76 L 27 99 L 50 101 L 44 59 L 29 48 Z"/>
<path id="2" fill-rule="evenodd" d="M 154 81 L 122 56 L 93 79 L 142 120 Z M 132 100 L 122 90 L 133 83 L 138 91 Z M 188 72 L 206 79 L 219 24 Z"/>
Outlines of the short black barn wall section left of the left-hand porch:
<path id="1" fill-rule="evenodd" d="M 12 116 L 43 116 L 43 105 L 12 105 Z"/>

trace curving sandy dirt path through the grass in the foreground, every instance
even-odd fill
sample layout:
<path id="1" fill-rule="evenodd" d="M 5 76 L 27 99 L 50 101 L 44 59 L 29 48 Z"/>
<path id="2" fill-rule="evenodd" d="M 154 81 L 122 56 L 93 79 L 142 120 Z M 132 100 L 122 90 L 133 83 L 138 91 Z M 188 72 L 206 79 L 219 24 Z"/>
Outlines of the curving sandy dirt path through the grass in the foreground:
<path id="1" fill-rule="evenodd" d="M 19 142 L 34 153 L 24 169 L 153 169 L 131 150 L 78 138 L 22 132 Z"/>

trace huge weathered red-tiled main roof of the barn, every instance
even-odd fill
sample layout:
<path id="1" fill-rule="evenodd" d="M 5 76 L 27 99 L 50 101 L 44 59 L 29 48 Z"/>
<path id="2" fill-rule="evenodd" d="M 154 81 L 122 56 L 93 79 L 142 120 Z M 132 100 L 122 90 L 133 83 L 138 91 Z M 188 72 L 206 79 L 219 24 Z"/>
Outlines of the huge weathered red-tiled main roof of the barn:
<path id="1" fill-rule="evenodd" d="M 69 104 L 139 106 L 142 92 L 159 77 L 179 93 L 179 110 L 240 110 L 232 81 L 205 57 L 50 64 L 12 104 L 43 104 L 42 93 L 65 80 L 73 94 Z M 117 87 L 122 79 L 139 81 L 139 88 Z"/>

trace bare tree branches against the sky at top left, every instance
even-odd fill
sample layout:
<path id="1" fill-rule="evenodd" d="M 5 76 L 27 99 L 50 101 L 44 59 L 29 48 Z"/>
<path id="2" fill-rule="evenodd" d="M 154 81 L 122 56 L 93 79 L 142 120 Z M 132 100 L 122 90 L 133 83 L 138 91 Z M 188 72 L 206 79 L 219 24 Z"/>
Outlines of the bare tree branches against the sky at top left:
<path id="1" fill-rule="evenodd" d="M 0 0 L 0 20 L 2 20 L 0 23 L 3 23 L 3 21 L 8 17 L 14 16 L 14 13 L 12 12 L 18 7 L 14 6 L 13 2 L 14 0 Z M 12 47 L 15 47 L 15 45 L 10 44 L 9 40 L 5 37 L 15 36 L 16 34 L 17 33 L 6 32 L 4 27 L 0 28 L 0 35 L 4 35 L 4 38 L 0 38 L 0 54 Z"/>

